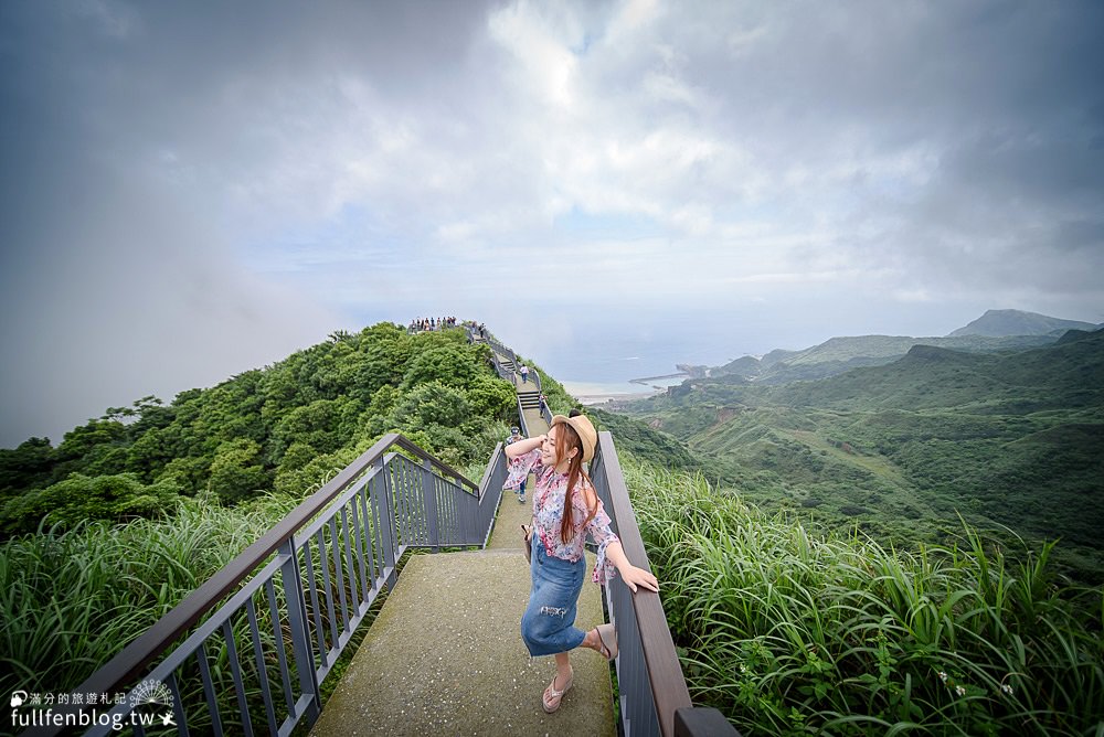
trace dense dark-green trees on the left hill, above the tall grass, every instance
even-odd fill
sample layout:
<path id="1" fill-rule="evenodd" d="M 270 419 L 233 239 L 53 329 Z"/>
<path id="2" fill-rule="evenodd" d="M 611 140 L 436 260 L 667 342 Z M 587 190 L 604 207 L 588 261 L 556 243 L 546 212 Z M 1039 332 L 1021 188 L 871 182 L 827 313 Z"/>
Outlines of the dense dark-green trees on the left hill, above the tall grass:
<path id="1" fill-rule="evenodd" d="M 65 434 L 0 450 L 0 533 L 172 513 L 211 491 L 236 504 L 304 494 L 397 430 L 455 467 L 486 462 L 514 414 L 489 349 L 460 330 L 380 323 L 164 406 L 144 397 Z"/>

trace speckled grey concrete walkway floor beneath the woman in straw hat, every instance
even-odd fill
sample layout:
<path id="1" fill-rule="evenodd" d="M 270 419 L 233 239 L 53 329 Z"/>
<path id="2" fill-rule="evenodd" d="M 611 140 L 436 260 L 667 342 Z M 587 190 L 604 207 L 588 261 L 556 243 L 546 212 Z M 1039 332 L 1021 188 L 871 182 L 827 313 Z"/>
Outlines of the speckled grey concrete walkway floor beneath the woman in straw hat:
<path id="1" fill-rule="evenodd" d="M 532 435 L 548 431 L 527 421 Z M 591 650 L 572 653 L 574 687 L 560 711 L 541 706 L 555 662 L 530 658 L 520 631 L 530 579 L 519 526 L 532 516 L 531 491 L 532 478 L 527 503 L 503 492 L 487 549 L 410 559 L 311 735 L 616 734 L 609 666 Z M 587 575 L 575 626 L 603 621 Z"/>

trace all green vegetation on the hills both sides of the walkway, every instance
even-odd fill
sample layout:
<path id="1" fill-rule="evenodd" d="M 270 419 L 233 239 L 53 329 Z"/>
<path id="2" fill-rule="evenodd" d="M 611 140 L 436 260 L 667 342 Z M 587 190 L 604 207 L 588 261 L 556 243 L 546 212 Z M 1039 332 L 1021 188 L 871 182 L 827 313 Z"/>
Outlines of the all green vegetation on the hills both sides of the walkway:
<path id="1" fill-rule="evenodd" d="M 694 381 L 639 419 L 588 410 L 696 703 L 745 734 L 1102 734 L 1102 346 L 915 346 L 815 383 Z M 478 479 L 516 412 L 486 346 L 381 324 L 0 451 L 0 692 L 79 684 L 381 434 Z M 212 643 L 231 699 L 227 656 Z M 181 688 L 202 698 L 194 674 Z"/>

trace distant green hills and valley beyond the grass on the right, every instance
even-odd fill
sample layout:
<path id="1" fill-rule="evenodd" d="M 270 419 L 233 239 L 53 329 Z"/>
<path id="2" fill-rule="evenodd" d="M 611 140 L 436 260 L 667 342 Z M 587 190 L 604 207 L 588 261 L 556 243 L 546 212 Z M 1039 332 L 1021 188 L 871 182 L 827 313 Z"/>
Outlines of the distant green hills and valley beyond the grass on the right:
<path id="1" fill-rule="evenodd" d="M 1061 537 L 1063 562 L 1104 580 L 1104 331 L 999 353 L 917 344 L 814 382 L 694 380 L 626 412 L 768 508 L 901 542 L 962 514 Z"/>

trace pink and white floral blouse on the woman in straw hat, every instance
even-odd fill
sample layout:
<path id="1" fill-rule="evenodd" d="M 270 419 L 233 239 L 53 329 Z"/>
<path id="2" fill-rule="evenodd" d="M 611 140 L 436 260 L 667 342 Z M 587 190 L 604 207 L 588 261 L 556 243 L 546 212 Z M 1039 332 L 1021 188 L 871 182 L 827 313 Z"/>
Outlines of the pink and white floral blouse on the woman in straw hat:
<path id="1" fill-rule="evenodd" d="M 534 448 L 524 456 L 511 460 L 510 473 L 502 488 L 516 489 L 522 479 L 533 473 L 537 477 L 537 488 L 533 490 L 533 520 L 537 528 L 533 532 L 540 535 L 544 552 L 575 563 L 583 557 L 586 533 L 591 533 L 591 537 L 598 545 L 597 560 L 591 580 L 595 584 L 605 584 L 617 574 L 614 564 L 606 559 L 606 548 L 609 543 L 620 541 L 609 528 L 609 515 L 606 514 L 602 500 L 597 500 L 598 510 L 584 526 L 583 521 L 586 520 L 590 510 L 586 509 L 586 499 L 583 495 L 585 481 L 580 479 L 575 484 L 576 493 L 571 496 L 574 534 L 564 543 L 560 538 L 560 525 L 563 523 L 563 496 L 567 490 L 567 474 L 556 473 L 554 468 L 544 466 L 540 457 L 541 449 Z"/>

